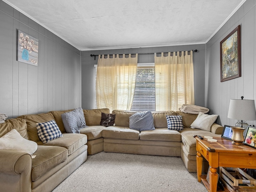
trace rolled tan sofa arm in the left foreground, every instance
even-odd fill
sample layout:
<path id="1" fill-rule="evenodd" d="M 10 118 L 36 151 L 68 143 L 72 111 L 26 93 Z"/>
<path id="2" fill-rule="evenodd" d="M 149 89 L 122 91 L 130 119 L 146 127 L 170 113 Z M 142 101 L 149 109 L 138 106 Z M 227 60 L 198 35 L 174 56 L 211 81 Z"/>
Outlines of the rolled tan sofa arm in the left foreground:
<path id="1" fill-rule="evenodd" d="M 31 191 L 32 159 L 25 152 L 0 150 L 0 186 L 3 191 Z"/>

